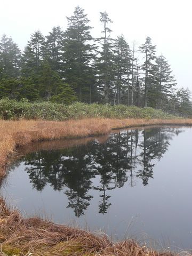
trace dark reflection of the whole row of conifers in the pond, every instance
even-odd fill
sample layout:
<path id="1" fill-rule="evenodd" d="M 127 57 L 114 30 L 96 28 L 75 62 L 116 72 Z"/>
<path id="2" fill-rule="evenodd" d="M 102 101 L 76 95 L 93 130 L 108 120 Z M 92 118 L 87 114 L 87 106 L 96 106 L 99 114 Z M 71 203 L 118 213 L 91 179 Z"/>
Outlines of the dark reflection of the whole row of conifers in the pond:
<path id="1" fill-rule="evenodd" d="M 154 160 L 163 157 L 174 135 L 180 128 L 156 128 L 120 131 L 110 134 L 106 141 L 95 139 L 86 145 L 37 151 L 23 158 L 25 171 L 33 188 L 42 191 L 46 185 L 63 190 L 68 205 L 76 217 L 84 214 L 90 205 L 89 190 L 100 194 L 98 212 L 107 213 L 111 201 L 109 190 L 129 182 L 131 187 L 139 179 L 147 186 L 153 178 Z M 93 178 L 98 177 L 98 182 Z"/>

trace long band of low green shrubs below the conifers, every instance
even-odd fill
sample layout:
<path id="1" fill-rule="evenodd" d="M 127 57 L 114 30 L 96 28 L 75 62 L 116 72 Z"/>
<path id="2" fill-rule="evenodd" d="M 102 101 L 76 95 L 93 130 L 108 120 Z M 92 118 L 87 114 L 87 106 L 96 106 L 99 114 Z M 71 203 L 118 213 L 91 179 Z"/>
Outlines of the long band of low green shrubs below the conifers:
<path id="1" fill-rule="evenodd" d="M 126 105 L 102 105 L 75 102 L 71 105 L 53 102 L 34 102 L 27 99 L 0 100 L 0 117 L 2 119 L 43 119 L 63 121 L 81 118 L 145 118 L 168 119 L 175 118 L 162 110 L 154 108 L 138 108 Z"/>

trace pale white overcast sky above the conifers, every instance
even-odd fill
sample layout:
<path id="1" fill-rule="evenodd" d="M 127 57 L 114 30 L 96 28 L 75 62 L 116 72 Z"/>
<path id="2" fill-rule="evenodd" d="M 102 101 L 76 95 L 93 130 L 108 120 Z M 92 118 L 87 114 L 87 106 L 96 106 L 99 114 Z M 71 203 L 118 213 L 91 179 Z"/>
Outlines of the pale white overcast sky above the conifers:
<path id="1" fill-rule="evenodd" d="M 23 50 L 35 30 L 44 35 L 53 26 L 67 27 L 66 16 L 75 6 L 85 9 L 92 35 L 100 36 L 100 12 L 113 20 L 111 37 L 123 34 L 130 44 L 143 44 L 150 36 L 157 53 L 169 61 L 178 87 L 192 91 L 192 1 L 191 0 L 1 0 L 0 36 L 11 36 Z"/>

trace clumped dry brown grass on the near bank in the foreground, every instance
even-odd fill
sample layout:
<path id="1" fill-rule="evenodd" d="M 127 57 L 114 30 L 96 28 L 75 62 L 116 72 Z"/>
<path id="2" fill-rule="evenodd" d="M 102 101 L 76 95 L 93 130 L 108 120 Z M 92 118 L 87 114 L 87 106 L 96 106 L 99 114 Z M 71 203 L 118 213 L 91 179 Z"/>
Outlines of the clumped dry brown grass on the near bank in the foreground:
<path id="1" fill-rule="evenodd" d="M 113 243 L 105 235 L 41 220 L 23 219 L 16 210 L 9 210 L 0 198 L 0 255 L 81 255 L 81 256 L 176 256 L 179 253 L 157 252 L 139 246 L 132 240 Z M 2 254 L 1 254 L 2 253 Z M 182 255 L 191 255 L 182 252 Z"/>

